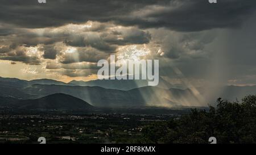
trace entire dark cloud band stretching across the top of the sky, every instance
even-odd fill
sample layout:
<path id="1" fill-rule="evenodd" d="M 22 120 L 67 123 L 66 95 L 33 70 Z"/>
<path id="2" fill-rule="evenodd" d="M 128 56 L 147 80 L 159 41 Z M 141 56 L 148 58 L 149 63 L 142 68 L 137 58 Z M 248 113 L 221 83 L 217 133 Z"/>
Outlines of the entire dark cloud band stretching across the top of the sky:
<path id="1" fill-rule="evenodd" d="M 0 22 L 19 27 L 51 27 L 87 20 L 115 22 L 141 28 L 166 27 L 177 31 L 238 27 L 256 9 L 256 1 L 226 0 L 2 0 Z"/>

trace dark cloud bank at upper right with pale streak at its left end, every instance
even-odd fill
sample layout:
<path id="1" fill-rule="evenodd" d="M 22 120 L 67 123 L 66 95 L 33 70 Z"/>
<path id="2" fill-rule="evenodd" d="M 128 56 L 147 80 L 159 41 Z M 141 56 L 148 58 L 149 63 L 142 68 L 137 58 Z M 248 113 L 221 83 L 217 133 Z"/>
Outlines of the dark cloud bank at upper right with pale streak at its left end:
<path id="1" fill-rule="evenodd" d="M 146 6 L 131 16 L 117 18 L 118 24 L 141 28 L 166 27 L 176 31 L 201 31 L 240 27 L 256 9 L 256 1 L 226 0 L 210 4 L 205 0 L 170 1 L 167 6 Z"/>

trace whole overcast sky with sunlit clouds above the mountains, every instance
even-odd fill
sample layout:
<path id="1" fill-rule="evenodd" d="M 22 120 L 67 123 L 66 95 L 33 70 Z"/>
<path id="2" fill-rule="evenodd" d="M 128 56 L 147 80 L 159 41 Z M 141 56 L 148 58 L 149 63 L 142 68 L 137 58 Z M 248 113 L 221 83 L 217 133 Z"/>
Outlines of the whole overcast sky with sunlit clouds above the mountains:
<path id="1" fill-rule="evenodd" d="M 0 76 L 96 79 L 98 60 L 146 51 L 171 83 L 254 85 L 256 1 L 217 2 L 1 0 Z"/>

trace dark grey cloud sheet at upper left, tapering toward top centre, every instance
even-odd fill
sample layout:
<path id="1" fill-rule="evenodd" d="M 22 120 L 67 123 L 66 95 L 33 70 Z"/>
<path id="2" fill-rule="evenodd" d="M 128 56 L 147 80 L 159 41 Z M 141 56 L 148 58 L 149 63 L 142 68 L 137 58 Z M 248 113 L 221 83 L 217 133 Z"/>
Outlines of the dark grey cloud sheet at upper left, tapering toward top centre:
<path id="1" fill-rule="evenodd" d="M 2 0 L 0 16 L 2 22 L 23 27 L 50 27 L 87 20 L 108 22 L 113 16 L 127 14 L 156 1 L 109 1 L 109 0 L 55 0 L 39 4 L 36 0 Z"/>

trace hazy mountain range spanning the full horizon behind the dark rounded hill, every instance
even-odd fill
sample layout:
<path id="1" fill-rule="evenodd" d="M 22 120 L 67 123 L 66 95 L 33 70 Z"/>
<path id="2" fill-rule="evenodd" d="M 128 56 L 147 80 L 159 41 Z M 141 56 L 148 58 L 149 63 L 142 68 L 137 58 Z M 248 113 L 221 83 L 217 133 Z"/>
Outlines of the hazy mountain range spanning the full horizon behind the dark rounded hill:
<path id="1" fill-rule="evenodd" d="M 136 83 L 136 85 L 133 83 Z M 109 87 L 112 87 L 112 89 Z M 199 88 L 198 90 L 203 96 L 209 91 L 205 88 Z M 16 103 L 15 100 L 19 100 L 19 103 L 24 103 L 23 107 L 31 107 L 33 102 L 35 103 L 34 106 L 39 108 L 39 104 L 43 104 L 40 100 L 52 94 L 71 95 L 96 107 L 207 106 L 208 103 L 214 103 L 218 97 L 234 100 L 236 98 L 241 99 L 249 94 L 256 94 L 256 86 L 221 87 L 220 90 L 215 91 L 211 98 L 207 98 L 206 103 L 192 90 L 177 89 L 162 78 L 159 80 L 159 86 L 153 87 L 147 86 L 147 81 L 133 80 L 71 81 L 64 83 L 52 79 L 26 81 L 18 78 L 0 77 L 0 104 L 5 106 L 8 103 L 10 104 L 7 106 L 11 106 L 11 103 Z M 58 105 L 61 105 L 59 101 L 65 103 L 65 100 L 68 100 L 68 98 L 63 98 L 61 95 L 55 95 L 55 98 Z M 20 102 L 20 100 L 23 101 Z M 68 103 L 73 102 L 75 101 L 72 100 Z M 77 102 L 79 101 L 77 100 Z"/>

